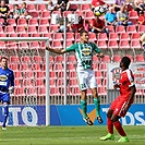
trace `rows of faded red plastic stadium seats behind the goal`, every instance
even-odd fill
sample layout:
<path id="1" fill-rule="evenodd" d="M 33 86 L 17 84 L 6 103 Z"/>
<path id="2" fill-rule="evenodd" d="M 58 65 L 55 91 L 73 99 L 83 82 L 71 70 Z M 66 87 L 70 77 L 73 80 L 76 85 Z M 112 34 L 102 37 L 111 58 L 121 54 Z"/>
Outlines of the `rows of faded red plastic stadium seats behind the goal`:
<path id="1" fill-rule="evenodd" d="M 64 36 L 62 33 L 56 33 L 60 25 L 51 24 L 51 14 L 60 14 L 60 11 L 53 11 L 52 13 L 48 11 L 48 0 L 23 0 L 27 3 L 27 10 L 33 16 L 29 20 L 25 19 L 8 19 L 8 26 L 0 26 L 0 37 L 49 37 L 50 45 L 53 48 L 62 48 Z M 55 1 L 56 2 L 56 1 Z M 9 7 L 11 12 L 13 11 L 12 3 L 21 4 L 21 0 L 10 0 Z M 72 11 L 73 10 L 73 11 Z M 70 13 L 76 13 L 81 15 L 84 21 L 88 20 L 92 23 L 95 17 L 90 10 L 90 0 L 71 0 L 71 7 L 69 11 L 63 13 L 68 16 Z M 101 17 L 104 19 L 104 16 Z M 140 35 L 145 33 L 145 25 L 137 24 L 138 15 L 136 11 L 129 12 L 129 20 L 133 22 L 134 25 L 131 26 L 107 26 L 109 29 L 109 37 L 106 33 L 95 34 L 89 32 L 89 40 L 95 41 L 97 46 L 105 51 L 107 55 L 104 59 L 99 60 L 94 57 L 93 68 L 95 69 L 96 80 L 98 83 L 99 95 L 107 95 L 107 63 L 119 62 L 121 57 L 126 55 L 134 62 L 144 62 L 142 44 L 140 41 Z M 3 20 L 0 19 L 0 23 Z M 67 33 L 67 47 L 80 40 L 78 33 Z M 10 56 L 10 68 L 14 70 L 15 74 L 15 96 L 22 97 L 33 94 L 34 96 L 45 96 L 45 43 L 32 41 L 32 43 L 20 43 L 14 44 L 12 41 L 3 43 L 0 41 L 0 49 L 14 50 L 19 53 L 20 50 L 34 50 L 37 49 L 40 56 L 35 52 L 32 55 L 22 52 L 19 57 L 17 53 L 12 53 Z M 135 53 L 132 53 L 134 49 Z M 110 52 L 112 50 L 112 53 Z M 131 50 L 131 51 L 130 51 Z M 63 94 L 63 56 L 50 56 L 49 58 L 49 76 L 50 76 L 50 96 L 60 96 Z M 32 63 L 33 62 L 33 63 Z M 31 64 L 32 63 L 32 64 Z M 75 72 L 76 59 L 73 55 L 67 56 L 67 80 L 69 78 L 68 93 L 72 96 L 80 96 L 80 89 L 77 87 L 76 72 Z M 25 72 L 25 73 L 24 73 Z M 29 80 L 28 80 L 28 78 Z M 59 80 L 58 80 L 59 78 Z M 100 80 L 104 78 L 104 80 Z M 35 80 L 32 82 L 32 80 Z M 61 92 L 56 85 L 61 87 Z M 25 86 L 29 88 L 25 92 Z M 35 86 L 35 87 L 31 87 Z M 37 89 L 37 90 L 36 90 Z M 88 93 L 90 94 L 90 93 Z M 19 102 L 19 101 L 16 101 Z M 13 104 L 16 104 L 13 102 Z M 21 101 L 22 102 L 22 101 Z M 56 99 L 51 100 L 52 104 L 57 104 Z M 76 101 L 74 101 L 76 102 Z M 19 102 L 20 104 L 20 102 Z M 61 104 L 61 102 L 60 102 Z"/>

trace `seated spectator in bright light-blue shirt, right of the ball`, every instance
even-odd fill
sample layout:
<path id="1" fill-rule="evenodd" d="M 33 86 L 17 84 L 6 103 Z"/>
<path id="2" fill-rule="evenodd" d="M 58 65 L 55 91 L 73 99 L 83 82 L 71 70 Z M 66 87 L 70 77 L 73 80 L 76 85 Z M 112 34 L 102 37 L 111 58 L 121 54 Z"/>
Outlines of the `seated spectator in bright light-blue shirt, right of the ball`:
<path id="1" fill-rule="evenodd" d="M 105 14 L 106 25 L 114 25 L 117 22 L 117 13 L 113 10 L 113 7 L 110 7 L 109 11 Z"/>

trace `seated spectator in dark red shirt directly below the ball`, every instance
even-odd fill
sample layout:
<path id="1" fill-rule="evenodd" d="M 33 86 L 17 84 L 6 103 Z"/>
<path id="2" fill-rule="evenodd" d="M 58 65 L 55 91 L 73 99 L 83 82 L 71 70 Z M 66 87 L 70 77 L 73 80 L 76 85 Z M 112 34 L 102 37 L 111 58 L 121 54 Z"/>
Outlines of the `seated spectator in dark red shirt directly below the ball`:
<path id="1" fill-rule="evenodd" d="M 93 33 L 107 33 L 107 36 L 109 35 L 108 28 L 105 26 L 105 21 L 100 20 L 99 16 L 95 16 L 92 27 Z"/>

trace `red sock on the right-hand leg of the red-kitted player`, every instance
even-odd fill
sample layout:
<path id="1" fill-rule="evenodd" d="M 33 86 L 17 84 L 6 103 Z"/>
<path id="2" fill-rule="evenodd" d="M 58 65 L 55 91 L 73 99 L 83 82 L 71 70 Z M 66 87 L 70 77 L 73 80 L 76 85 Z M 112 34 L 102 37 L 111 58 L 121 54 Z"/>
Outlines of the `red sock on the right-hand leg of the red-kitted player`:
<path id="1" fill-rule="evenodd" d="M 121 135 L 121 136 L 126 136 L 121 123 L 119 121 L 116 121 L 112 123 L 116 128 L 116 130 L 118 131 L 118 133 Z"/>

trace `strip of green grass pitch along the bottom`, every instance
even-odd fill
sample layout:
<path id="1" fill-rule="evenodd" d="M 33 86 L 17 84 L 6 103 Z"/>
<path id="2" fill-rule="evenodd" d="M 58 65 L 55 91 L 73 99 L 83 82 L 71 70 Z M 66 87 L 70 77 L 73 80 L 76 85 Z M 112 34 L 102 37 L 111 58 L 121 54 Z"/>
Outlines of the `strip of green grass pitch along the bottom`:
<path id="1" fill-rule="evenodd" d="M 0 145 L 145 145 L 145 126 L 124 126 L 129 143 L 99 141 L 107 134 L 106 126 L 9 126 L 0 131 Z"/>

